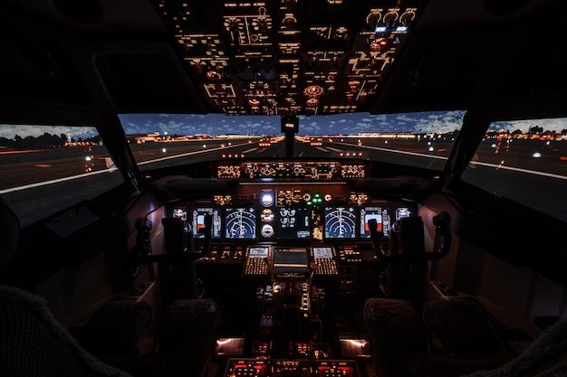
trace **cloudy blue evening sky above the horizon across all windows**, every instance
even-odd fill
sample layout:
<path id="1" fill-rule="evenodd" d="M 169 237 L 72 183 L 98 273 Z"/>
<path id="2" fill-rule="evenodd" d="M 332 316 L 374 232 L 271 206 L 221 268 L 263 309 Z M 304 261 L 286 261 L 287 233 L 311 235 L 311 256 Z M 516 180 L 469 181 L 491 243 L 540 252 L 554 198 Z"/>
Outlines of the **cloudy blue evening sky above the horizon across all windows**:
<path id="1" fill-rule="evenodd" d="M 360 132 L 415 132 L 446 133 L 460 129 L 464 111 L 437 111 L 428 113 L 405 113 L 369 115 L 368 113 L 338 114 L 333 116 L 300 116 L 299 135 L 348 135 Z M 226 116 L 224 114 L 124 114 L 120 120 L 125 132 L 131 134 L 196 135 L 207 134 L 252 134 L 280 135 L 279 116 Z M 561 132 L 567 128 L 567 118 L 539 119 L 512 122 L 497 122 L 492 130 L 520 129 L 526 133 L 530 127 L 543 127 L 545 131 Z M 38 137 L 43 133 L 66 135 L 73 138 L 92 137 L 97 134 L 94 127 L 39 127 L 0 125 L 0 137 Z"/>

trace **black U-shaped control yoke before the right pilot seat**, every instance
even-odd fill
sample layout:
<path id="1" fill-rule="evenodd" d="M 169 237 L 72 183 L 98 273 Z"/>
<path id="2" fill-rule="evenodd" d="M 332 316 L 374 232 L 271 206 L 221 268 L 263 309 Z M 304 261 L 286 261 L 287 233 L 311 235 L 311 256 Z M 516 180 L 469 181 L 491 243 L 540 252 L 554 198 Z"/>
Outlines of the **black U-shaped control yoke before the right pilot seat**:
<path id="1" fill-rule="evenodd" d="M 420 216 L 412 216 L 394 222 L 390 236 L 389 252 L 380 247 L 380 239 L 384 233 L 378 231 L 375 219 L 368 221 L 372 248 L 378 259 L 384 262 L 422 263 L 445 257 L 451 246 L 451 217 L 447 212 L 440 212 L 433 217 L 436 233 L 441 237 L 441 245 L 437 251 L 425 251 L 423 240 L 423 221 Z"/>

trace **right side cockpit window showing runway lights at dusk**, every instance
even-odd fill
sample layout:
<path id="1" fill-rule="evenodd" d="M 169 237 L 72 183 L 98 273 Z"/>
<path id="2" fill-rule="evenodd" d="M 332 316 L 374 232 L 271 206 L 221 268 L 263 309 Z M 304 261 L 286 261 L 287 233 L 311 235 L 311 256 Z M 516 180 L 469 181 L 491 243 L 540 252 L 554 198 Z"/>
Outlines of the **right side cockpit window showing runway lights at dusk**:
<path id="1" fill-rule="evenodd" d="M 493 122 L 462 178 L 567 221 L 567 118 Z"/>

